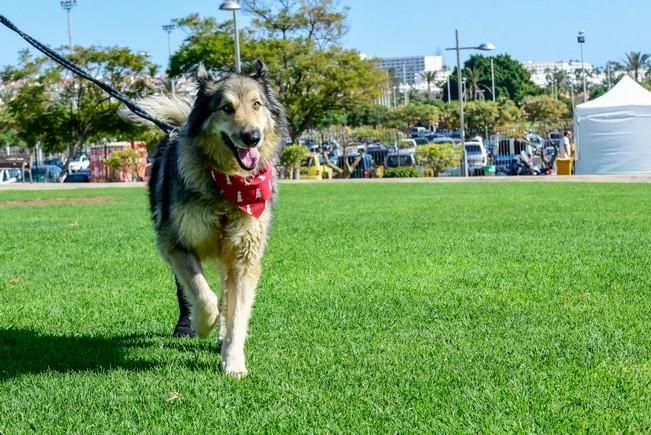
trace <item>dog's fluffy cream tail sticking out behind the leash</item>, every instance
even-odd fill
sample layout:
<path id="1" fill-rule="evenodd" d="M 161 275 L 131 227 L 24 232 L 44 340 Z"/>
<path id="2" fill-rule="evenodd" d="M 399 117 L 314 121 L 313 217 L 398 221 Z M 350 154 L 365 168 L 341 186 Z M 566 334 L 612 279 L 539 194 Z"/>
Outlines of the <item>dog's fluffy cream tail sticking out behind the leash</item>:
<path id="1" fill-rule="evenodd" d="M 185 121 L 187 121 L 188 116 L 190 116 L 190 111 L 192 110 L 192 103 L 190 101 L 170 95 L 146 97 L 142 100 L 138 100 L 137 104 L 146 112 L 150 113 L 154 118 L 162 119 L 174 127 L 181 127 L 185 124 Z M 152 122 L 134 115 L 126 107 L 120 109 L 120 116 L 124 120 L 134 124 L 143 124 L 150 127 L 155 126 Z"/>

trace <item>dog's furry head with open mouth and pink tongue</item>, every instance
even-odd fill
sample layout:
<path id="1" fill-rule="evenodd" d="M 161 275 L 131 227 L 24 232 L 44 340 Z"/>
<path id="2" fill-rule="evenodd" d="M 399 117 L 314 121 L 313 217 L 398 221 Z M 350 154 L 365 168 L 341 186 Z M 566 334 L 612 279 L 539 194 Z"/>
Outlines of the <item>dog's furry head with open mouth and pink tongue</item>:
<path id="1" fill-rule="evenodd" d="M 211 166 L 226 174 L 261 168 L 278 152 L 285 115 L 261 62 L 248 76 L 197 71 L 198 92 L 186 125 Z"/>

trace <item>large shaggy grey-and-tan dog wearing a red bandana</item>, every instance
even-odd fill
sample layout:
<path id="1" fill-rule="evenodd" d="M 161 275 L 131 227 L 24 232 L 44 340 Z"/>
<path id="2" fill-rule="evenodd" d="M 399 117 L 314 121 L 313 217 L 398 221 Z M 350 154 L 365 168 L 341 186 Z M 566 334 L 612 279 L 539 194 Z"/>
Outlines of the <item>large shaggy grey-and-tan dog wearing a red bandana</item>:
<path id="1" fill-rule="evenodd" d="M 158 145 L 149 179 L 158 251 L 177 286 L 176 336 L 206 338 L 219 324 L 222 369 L 247 375 L 244 344 L 276 197 L 274 164 L 287 133 L 266 66 L 213 76 L 199 65 L 194 104 L 141 105 L 177 127 Z M 202 263 L 215 261 L 219 301 Z"/>

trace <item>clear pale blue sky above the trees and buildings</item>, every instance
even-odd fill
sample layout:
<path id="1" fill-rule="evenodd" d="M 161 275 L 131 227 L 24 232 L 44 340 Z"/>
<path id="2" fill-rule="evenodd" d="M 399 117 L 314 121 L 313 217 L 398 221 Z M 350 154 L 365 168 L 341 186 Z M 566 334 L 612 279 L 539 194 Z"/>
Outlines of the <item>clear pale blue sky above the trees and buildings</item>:
<path id="1" fill-rule="evenodd" d="M 73 41 L 121 45 L 147 51 L 163 65 L 167 38 L 161 25 L 192 12 L 226 19 L 220 0 L 78 0 L 72 11 Z M 437 54 L 452 64 L 454 30 L 462 45 L 490 41 L 497 53 L 518 60 L 580 57 L 576 35 L 585 30 L 585 60 L 603 65 L 628 51 L 651 52 L 650 0 L 341 0 L 350 7 L 348 48 L 378 56 Z M 35 38 L 58 47 L 67 43 L 59 0 L 0 0 L 0 13 Z M 240 15 L 241 17 L 241 15 Z M 241 17 L 246 25 L 248 20 Z M 173 34 L 173 47 L 183 32 Z M 14 64 L 26 43 L 0 28 L 0 66 Z M 242 47 L 246 50 L 246 47 Z"/>

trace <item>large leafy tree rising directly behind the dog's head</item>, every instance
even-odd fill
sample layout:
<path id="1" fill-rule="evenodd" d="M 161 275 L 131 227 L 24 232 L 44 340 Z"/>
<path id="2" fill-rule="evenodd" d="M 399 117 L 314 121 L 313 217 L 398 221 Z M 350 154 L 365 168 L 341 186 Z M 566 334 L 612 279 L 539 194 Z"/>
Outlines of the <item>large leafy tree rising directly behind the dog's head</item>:
<path id="1" fill-rule="evenodd" d="M 333 0 L 246 1 L 261 30 L 243 31 L 242 61 L 264 61 L 274 88 L 287 109 L 290 136 L 296 142 L 306 129 L 323 125 L 328 112 L 348 113 L 374 102 L 386 88 L 386 75 L 370 60 L 337 43 L 346 30 L 346 10 Z M 232 43 L 228 27 L 197 16 L 177 20 L 189 31 L 172 56 L 170 74 L 189 73 L 200 61 L 228 71 Z M 210 36 L 212 34 L 212 36 Z M 338 118 L 330 118 L 337 120 Z"/>

